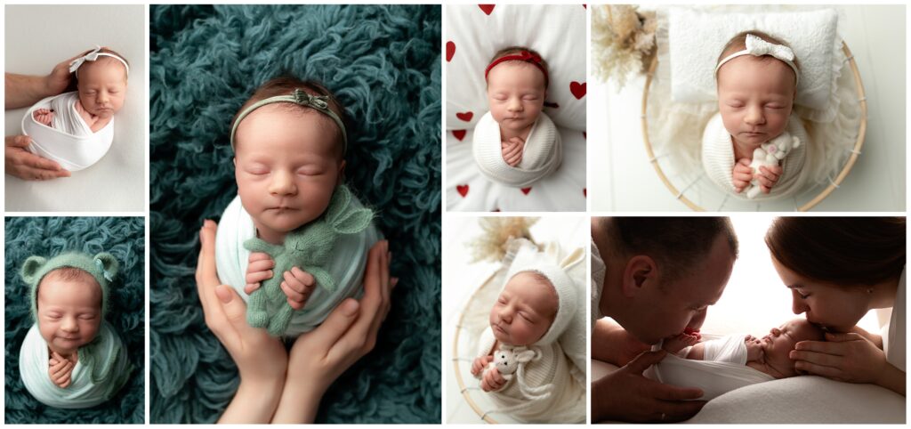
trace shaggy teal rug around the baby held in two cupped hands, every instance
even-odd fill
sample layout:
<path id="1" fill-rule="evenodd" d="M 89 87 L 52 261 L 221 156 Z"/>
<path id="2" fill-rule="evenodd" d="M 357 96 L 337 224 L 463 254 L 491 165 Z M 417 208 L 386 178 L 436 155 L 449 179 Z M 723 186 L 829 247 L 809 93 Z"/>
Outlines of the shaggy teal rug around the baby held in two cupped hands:
<path id="1" fill-rule="evenodd" d="M 199 230 L 237 193 L 231 117 L 292 74 L 346 107 L 347 182 L 377 209 L 401 279 L 374 352 L 317 421 L 439 423 L 440 6 L 151 5 L 149 19 L 150 422 L 214 422 L 237 389 L 196 293 Z"/>

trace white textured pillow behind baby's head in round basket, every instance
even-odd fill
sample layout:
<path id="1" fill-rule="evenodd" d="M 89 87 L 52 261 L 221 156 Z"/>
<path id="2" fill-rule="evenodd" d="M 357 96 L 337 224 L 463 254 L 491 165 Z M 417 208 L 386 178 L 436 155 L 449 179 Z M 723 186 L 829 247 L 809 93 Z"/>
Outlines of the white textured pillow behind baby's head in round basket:
<path id="1" fill-rule="evenodd" d="M 793 47 L 801 66 L 797 104 L 823 110 L 833 91 L 837 26 L 838 14 L 834 9 L 736 14 L 671 7 L 668 17 L 671 100 L 715 101 L 714 71 L 722 48 L 738 33 L 756 29 Z"/>

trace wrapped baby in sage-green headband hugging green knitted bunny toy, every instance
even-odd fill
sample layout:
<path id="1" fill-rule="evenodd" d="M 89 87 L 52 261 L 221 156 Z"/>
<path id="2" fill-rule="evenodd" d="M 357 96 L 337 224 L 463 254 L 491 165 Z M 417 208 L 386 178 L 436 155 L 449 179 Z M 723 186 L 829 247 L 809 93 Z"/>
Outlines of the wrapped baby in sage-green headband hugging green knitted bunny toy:
<path id="1" fill-rule="evenodd" d="M 233 120 L 238 197 L 222 216 L 216 261 L 248 299 L 247 322 L 296 336 L 357 296 L 367 250 L 379 240 L 343 184 L 343 107 L 322 85 L 278 77 Z"/>

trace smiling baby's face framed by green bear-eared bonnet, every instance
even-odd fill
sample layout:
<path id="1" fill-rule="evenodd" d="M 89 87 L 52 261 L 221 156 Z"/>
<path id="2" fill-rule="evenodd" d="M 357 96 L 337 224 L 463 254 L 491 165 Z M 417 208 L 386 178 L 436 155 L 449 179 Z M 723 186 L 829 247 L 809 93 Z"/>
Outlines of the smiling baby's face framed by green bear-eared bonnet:
<path id="1" fill-rule="evenodd" d="M 101 288 L 90 276 L 60 280 L 47 274 L 38 286 L 38 332 L 47 346 L 71 354 L 91 342 L 101 325 Z"/>

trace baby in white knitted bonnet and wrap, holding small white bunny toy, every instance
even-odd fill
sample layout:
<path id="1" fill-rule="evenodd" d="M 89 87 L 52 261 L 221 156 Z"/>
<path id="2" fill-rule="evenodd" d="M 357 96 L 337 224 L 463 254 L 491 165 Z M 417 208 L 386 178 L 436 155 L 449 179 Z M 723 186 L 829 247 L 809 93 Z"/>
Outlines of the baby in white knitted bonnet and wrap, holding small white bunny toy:
<path id="1" fill-rule="evenodd" d="M 525 267 L 508 279 L 471 373 L 498 412 L 524 422 L 584 422 L 585 389 L 558 342 L 579 310 L 573 282 L 556 266 Z"/>

